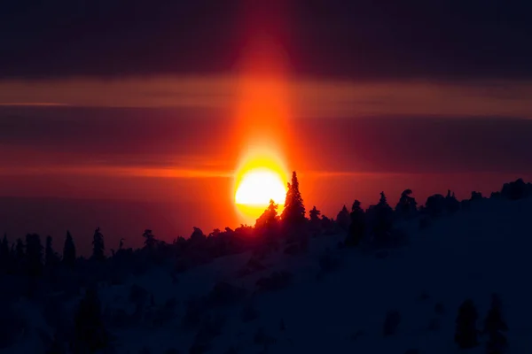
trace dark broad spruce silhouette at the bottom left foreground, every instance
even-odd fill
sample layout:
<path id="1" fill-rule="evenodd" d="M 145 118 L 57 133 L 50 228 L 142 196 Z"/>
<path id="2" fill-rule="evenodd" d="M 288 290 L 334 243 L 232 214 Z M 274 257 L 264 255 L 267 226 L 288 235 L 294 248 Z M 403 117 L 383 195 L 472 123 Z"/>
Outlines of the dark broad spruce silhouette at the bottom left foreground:
<path id="1" fill-rule="evenodd" d="M 87 289 L 74 315 L 73 351 L 95 353 L 109 344 L 109 335 L 102 320 L 101 303 L 95 288 Z"/>

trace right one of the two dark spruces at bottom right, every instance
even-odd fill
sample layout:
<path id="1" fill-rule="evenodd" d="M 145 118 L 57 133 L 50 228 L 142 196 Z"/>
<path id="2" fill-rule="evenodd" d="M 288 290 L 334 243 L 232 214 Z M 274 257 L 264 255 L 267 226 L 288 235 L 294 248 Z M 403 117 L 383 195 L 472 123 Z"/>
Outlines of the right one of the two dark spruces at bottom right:
<path id="1" fill-rule="evenodd" d="M 483 333 L 488 335 L 486 354 L 503 354 L 508 342 L 502 332 L 508 330 L 503 319 L 502 301 L 497 294 L 491 295 L 491 308 L 484 319 Z"/>

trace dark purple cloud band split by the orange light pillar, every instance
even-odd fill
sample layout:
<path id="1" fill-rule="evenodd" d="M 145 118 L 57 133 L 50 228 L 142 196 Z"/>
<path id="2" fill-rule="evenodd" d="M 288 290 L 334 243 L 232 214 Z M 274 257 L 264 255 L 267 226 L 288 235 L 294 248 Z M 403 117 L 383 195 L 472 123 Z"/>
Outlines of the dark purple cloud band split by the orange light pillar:
<path id="1" fill-rule="evenodd" d="M 241 147 L 223 114 L 162 109 L 0 111 L 3 165 L 231 170 Z M 9 110 L 8 110 L 9 111 Z M 289 168 L 320 172 L 532 173 L 532 120 L 293 119 Z M 301 150 L 298 150 L 300 148 Z"/>

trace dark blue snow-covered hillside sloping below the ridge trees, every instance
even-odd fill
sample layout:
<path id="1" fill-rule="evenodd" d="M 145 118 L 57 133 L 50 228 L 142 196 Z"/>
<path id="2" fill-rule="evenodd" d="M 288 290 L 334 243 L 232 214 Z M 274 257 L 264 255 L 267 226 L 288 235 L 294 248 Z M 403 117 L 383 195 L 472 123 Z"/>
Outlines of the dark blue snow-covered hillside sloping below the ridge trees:
<path id="1" fill-rule="evenodd" d="M 363 252 L 339 248 L 345 235 L 321 235 L 311 239 L 305 253 L 272 253 L 260 259 L 257 267 L 265 269 L 245 276 L 239 271 L 252 258 L 250 252 L 175 276 L 166 267 L 155 268 L 99 289 L 98 296 L 107 322 L 114 324 L 108 329 L 116 336 L 118 353 L 449 354 L 464 352 L 453 341 L 459 304 L 473 299 L 481 327 L 490 296 L 497 292 L 509 349 L 529 353 L 530 216 L 532 199 L 483 199 L 423 229 L 419 219 L 404 221 L 397 227 L 406 231 L 410 244 L 401 248 Z M 292 277 L 279 282 L 282 289 L 257 291 L 257 280 L 276 271 Z M 209 298 L 221 282 L 235 288 L 220 288 Z M 221 296 L 226 293 L 230 298 Z M 201 302 L 202 296 L 207 301 Z M 395 333 L 383 335 L 387 313 L 394 311 L 400 315 Z M 43 327 L 42 320 L 32 322 Z M 39 337 L 27 335 L 5 352 L 29 352 L 28 342 L 35 344 Z M 194 343 L 198 351 L 191 350 Z"/>

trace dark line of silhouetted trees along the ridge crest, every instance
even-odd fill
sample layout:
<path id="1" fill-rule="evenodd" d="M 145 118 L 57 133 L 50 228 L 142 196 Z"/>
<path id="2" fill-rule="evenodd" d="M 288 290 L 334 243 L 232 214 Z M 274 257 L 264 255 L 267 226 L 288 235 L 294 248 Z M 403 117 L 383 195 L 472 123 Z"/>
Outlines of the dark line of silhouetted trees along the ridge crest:
<path id="1" fill-rule="evenodd" d="M 307 218 L 297 174 L 293 172 L 292 180 L 288 183 L 283 211 L 279 213 L 278 204 L 271 200 L 270 205 L 256 219 L 254 227 L 241 225 L 234 230 L 225 227 L 224 230 L 215 229 L 208 235 L 205 235 L 199 227 L 193 227 L 192 235 L 188 239 L 178 237 L 172 243 L 158 240 L 151 229 L 146 229 L 142 235 L 145 239 L 142 250 L 124 250 L 122 239 L 118 250 L 111 250 L 112 258 L 134 257 L 140 253 L 150 254 L 155 260 L 160 259 L 159 256 L 195 258 L 192 261 L 194 263 L 201 262 L 200 258 L 206 260 L 222 257 L 262 245 L 278 249 L 282 238 L 287 242 L 294 239 L 301 242 L 301 239 L 304 241 L 309 235 L 334 233 L 338 229 L 347 232 L 345 245 L 348 247 L 356 247 L 364 240 L 377 244 L 386 243 L 395 236 L 393 226 L 397 219 L 411 219 L 419 214 L 435 217 L 444 212 L 457 212 L 467 205 L 464 202 L 473 202 L 482 198 L 481 193 L 473 191 L 469 201 L 460 203 L 454 193 L 448 190 L 446 196 L 441 194 L 429 196 L 426 203 L 419 206 L 412 195 L 411 189 L 405 189 L 395 208 L 387 203 L 384 192 L 380 193 L 379 203 L 370 205 L 366 210 L 362 208 L 359 200 L 355 200 L 351 210 L 348 211 L 344 205 L 336 219 L 327 218 L 317 210 L 316 206 L 313 206 Z M 532 184 L 525 183 L 521 179 L 506 183 L 501 192 L 493 193 L 491 196 L 511 200 L 532 196 Z M 94 261 L 106 259 L 104 235 L 99 227 L 94 231 L 90 259 Z M 61 265 L 74 267 L 75 263 L 76 250 L 69 232 L 66 233 L 62 255 L 53 250 L 51 236 L 46 237 L 45 247 L 36 234 L 28 234 L 25 242 L 17 239 L 12 244 L 4 235 L 4 239 L 0 242 L 2 273 L 27 274 L 35 277 L 41 275 L 45 268 Z"/>

